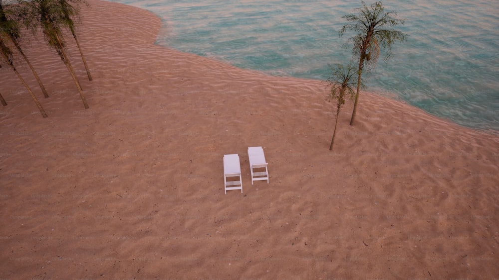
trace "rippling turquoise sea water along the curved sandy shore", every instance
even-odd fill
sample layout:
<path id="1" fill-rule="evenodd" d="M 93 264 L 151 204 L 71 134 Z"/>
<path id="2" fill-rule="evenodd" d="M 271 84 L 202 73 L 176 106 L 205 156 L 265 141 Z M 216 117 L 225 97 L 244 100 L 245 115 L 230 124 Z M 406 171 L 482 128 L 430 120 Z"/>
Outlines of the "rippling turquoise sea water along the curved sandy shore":
<path id="1" fill-rule="evenodd" d="M 157 44 L 275 76 L 325 80 L 345 64 L 341 17 L 360 1 L 115 0 L 163 19 Z M 499 131 L 499 1 L 383 1 L 409 34 L 380 58 L 367 91 L 404 100 L 463 126 Z M 371 4 L 367 1 L 367 4 Z M 367 77 L 366 77 L 367 78 Z"/>

